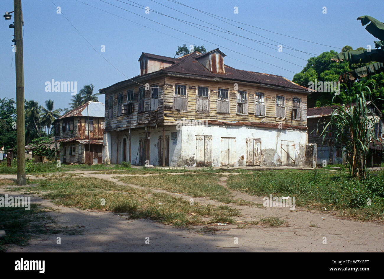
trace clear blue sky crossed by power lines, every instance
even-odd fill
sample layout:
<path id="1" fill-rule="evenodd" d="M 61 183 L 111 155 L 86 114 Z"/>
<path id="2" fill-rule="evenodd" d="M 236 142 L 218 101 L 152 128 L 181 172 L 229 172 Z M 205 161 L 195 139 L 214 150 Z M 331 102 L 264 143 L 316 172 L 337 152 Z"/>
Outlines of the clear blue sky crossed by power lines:
<path id="1" fill-rule="evenodd" d="M 89 5 L 84 5 L 76 0 L 52 1 L 55 5 L 50 0 L 22 0 L 24 19 L 24 83 L 25 99 L 34 99 L 39 104 L 44 104 L 47 99 L 52 99 L 55 101 L 56 108 L 69 107 L 68 103 L 72 96 L 70 92 L 45 92 L 45 83 L 47 81 L 51 81 L 51 79 L 55 81 L 76 81 L 78 91 L 84 84 L 92 83 L 95 86 L 95 92 L 97 92 L 100 88 L 139 74 L 137 59 L 142 52 L 173 57 L 177 46 L 184 43 L 187 46 L 191 44 L 204 45 L 207 50 L 218 47 L 223 53 L 227 54 L 225 64 L 234 68 L 279 74 L 292 79 L 294 73 L 300 72 L 305 66 L 306 61 L 302 59 L 308 59 L 313 55 L 288 50 L 285 46 L 283 46 L 283 51 L 279 52 L 278 45 L 287 45 L 297 50 L 314 54 L 320 54 L 331 49 L 341 51 L 339 48 L 342 48 L 344 45 L 358 48 L 361 46 L 366 47 L 369 44 L 373 48 L 373 41 L 377 39 L 370 35 L 356 18 L 362 15 L 370 15 L 384 21 L 382 15 L 384 2 L 382 0 L 369 1 L 369 5 L 367 5 L 368 2 L 364 2 L 362 7 L 360 7 L 361 1 L 354 0 L 195 0 L 193 2 L 177 0 L 177 2 L 184 3 L 190 7 L 223 17 L 225 18 L 224 20 L 240 21 L 276 33 L 323 44 L 318 45 L 231 22 L 233 25 L 258 34 L 256 35 L 169 0 L 154 0 L 158 3 L 151 0 L 132 0 L 131 2 L 128 0 L 103 0 L 142 17 L 108 5 L 100 0 L 79 0 L 122 18 L 97 10 Z M 133 7 L 123 2 L 149 7 L 149 13 L 146 13 L 145 8 Z M 164 7 L 159 3 L 174 10 Z M 56 6 L 60 7 L 61 14 L 57 13 Z M 238 7 L 238 13 L 234 13 L 234 7 Z M 326 7 L 326 13 L 323 13 L 323 7 Z M 2 12 L 2 15 L 5 11 L 10 12 L 12 10 L 12 0 L 1 1 L 0 12 Z M 255 41 L 199 26 L 199 28 L 246 45 L 249 47 L 247 48 L 170 17 L 159 15 L 154 11 L 218 29 L 202 22 L 207 21 L 237 35 L 270 43 L 271 45 L 269 46 L 273 49 L 260 45 Z M 71 21 L 99 54 L 103 55 L 105 59 L 125 76 L 96 53 L 63 15 Z M 8 25 L 12 22 L 13 20 L 5 21 L 0 19 L 0 97 L 7 98 L 15 98 L 15 57 L 12 52 L 11 42 L 13 30 L 8 28 Z M 137 25 L 135 22 L 176 38 Z M 172 30 L 167 26 L 189 35 Z M 105 46 L 105 52 L 101 52 L 102 45 Z M 250 48 L 268 53 L 269 55 Z M 295 58 L 287 53 L 302 59 Z M 291 63 L 278 58 L 290 61 Z M 99 97 L 99 101 L 104 102 L 104 95 Z"/>

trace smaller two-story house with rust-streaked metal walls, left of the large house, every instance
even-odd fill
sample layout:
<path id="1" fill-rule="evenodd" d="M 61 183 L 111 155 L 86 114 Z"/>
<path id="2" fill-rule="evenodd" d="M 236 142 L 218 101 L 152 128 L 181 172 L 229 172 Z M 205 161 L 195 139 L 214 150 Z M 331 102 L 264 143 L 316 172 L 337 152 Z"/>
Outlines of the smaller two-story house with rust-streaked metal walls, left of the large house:
<path id="1" fill-rule="evenodd" d="M 76 107 L 56 119 L 53 126 L 55 142 L 60 143 L 61 163 L 102 163 L 103 103 L 88 102 Z"/>

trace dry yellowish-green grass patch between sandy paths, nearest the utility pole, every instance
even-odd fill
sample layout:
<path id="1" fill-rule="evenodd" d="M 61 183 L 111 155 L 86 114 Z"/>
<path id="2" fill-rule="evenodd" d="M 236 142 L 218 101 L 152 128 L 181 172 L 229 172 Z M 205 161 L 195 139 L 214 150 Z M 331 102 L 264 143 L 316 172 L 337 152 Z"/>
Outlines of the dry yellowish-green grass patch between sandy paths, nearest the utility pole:
<path id="1" fill-rule="evenodd" d="M 35 181 L 33 191 L 54 203 L 80 209 L 127 213 L 128 218 L 150 218 L 173 226 L 204 225 L 210 218 L 230 218 L 240 212 L 230 206 L 202 205 L 165 193 L 152 193 L 98 178 L 56 178 Z M 20 190 L 20 189 L 19 189 Z"/>

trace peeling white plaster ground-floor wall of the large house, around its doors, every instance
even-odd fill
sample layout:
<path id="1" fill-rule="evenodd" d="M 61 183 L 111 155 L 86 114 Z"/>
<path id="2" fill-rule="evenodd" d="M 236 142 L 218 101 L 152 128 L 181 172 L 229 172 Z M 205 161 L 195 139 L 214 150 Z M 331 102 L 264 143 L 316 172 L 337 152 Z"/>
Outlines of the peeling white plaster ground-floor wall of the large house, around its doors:
<path id="1" fill-rule="evenodd" d="M 169 166 L 187 167 L 196 166 L 196 135 L 212 135 L 212 165 L 218 167 L 221 165 L 221 138 L 236 138 L 236 164 L 235 166 L 246 165 L 245 139 L 260 138 L 262 147 L 262 165 L 277 166 L 281 165 L 281 140 L 290 140 L 295 144 L 296 165 L 303 165 L 305 161 L 305 146 L 307 144 L 307 133 L 303 130 L 290 129 L 263 129 L 249 126 L 194 126 L 185 125 L 181 127 L 166 127 L 165 135 L 169 136 Z M 171 132 L 177 132 L 175 144 L 171 138 Z M 151 130 L 150 134 L 150 164 L 159 165 L 159 136 L 162 136 L 162 129 Z M 117 144 L 116 132 L 106 133 L 106 149 L 108 150 L 110 162 L 115 164 Z M 122 161 L 122 139 L 129 139 L 128 131 L 119 132 L 119 163 Z M 139 139 L 145 137 L 145 129 L 131 130 L 131 164 L 139 164 Z M 127 144 L 127 149 L 128 149 Z M 268 154 L 267 154 L 268 153 Z M 301 160 L 299 158 L 299 155 Z M 127 150 L 127 158 L 129 158 Z M 243 158 L 242 158 L 243 156 Z"/>

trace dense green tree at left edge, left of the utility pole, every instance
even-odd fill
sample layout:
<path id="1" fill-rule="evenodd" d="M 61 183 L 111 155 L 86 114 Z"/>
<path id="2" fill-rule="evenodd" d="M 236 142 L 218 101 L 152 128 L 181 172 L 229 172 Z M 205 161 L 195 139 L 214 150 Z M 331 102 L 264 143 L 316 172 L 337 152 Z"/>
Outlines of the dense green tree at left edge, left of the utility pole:
<path id="1" fill-rule="evenodd" d="M 0 99 L 0 147 L 8 150 L 16 146 L 16 102 L 14 99 Z"/>

